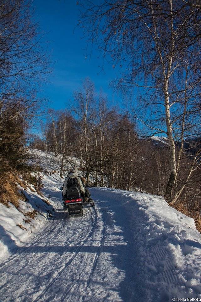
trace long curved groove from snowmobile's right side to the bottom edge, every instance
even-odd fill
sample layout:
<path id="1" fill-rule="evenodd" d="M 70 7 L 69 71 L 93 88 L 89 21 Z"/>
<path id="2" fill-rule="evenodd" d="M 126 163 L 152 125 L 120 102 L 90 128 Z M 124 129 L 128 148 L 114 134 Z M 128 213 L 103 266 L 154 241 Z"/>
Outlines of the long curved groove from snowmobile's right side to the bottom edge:
<path id="1" fill-rule="evenodd" d="M 84 246 L 84 244 L 86 243 L 86 241 L 88 240 L 88 238 L 90 238 L 90 236 L 92 236 L 93 232 L 94 232 L 94 229 L 95 229 L 95 226 L 96 226 L 96 223 L 97 223 L 97 218 L 98 218 L 98 215 L 97 215 L 97 212 L 96 212 L 96 209 L 95 207 L 93 207 L 94 209 L 94 212 L 95 212 L 95 220 L 94 220 L 94 223 L 93 223 L 93 226 L 91 228 L 91 231 L 89 232 L 89 234 L 85 237 L 85 239 L 83 240 L 82 244 L 79 246 L 79 248 L 75 251 L 74 255 L 68 260 L 68 262 L 65 264 L 65 266 L 57 272 L 57 275 L 56 277 L 54 277 L 49 284 L 47 284 L 46 288 L 42 291 L 42 293 L 35 299 L 33 300 L 33 302 L 37 302 L 39 301 L 42 296 L 48 291 L 48 289 L 52 286 L 52 284 L 58 279 L 58 277 L 62 274 L 63 271 L 66 270 L 66 268 L 71 264 L 71 262 L 77 257 L 77 255 L 79 254 L 80 250 L 82 249 L 82 247 Z M 84 269 L 83 269 L 84 270 Z M 81 271 L 81 273 L 83 272 L 83 270 Z M 65 292 L 65 295 L 73 288 L 73 286 L 71 288 L 68 289 L 67 292 Z M 63 301 L 63 300 L 62 300 Z"/>

